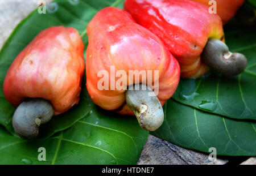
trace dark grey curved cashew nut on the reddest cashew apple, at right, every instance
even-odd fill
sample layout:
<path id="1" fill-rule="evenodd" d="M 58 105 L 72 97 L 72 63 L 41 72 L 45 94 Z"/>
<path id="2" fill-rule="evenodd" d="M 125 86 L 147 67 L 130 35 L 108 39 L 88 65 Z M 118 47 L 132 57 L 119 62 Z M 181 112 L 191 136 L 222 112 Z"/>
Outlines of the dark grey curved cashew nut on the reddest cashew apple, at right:
<path id="1" fill-rule="evenodd" d="M 231 53 L 220 40 L 209 39 L 201 57 L 208 67 L 226 76 L 241 74 L 247 65 L 243 54 Z"/>

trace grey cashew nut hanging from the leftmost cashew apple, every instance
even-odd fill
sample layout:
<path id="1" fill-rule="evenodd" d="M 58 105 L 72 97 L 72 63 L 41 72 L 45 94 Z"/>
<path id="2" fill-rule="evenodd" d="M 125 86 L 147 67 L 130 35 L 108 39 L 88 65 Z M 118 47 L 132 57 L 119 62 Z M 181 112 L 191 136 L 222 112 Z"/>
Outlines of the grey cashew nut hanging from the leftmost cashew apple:
<path id="1" fill-rule="evenodd" d="M 23 101 L 13 115 L 13 128 L 17 135 L 25 139 L 36 138 L 40 124 L 47 123 L 53 116 L 53 107 L 41 98 Z"/>

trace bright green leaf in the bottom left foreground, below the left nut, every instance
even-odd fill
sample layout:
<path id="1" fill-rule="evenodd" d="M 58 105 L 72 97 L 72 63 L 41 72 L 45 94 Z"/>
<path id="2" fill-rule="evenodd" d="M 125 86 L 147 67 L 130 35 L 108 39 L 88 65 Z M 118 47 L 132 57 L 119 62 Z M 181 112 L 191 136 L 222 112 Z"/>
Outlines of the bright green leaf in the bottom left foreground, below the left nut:
<path id="1" fill-rule="evenodd" d="M 24 140 L 0 127 L 0 164 L 136 164 L 148 132 L 136 118 L 90 105 L 75 125 L 46 140 Z M 38 149 L 46 149 L 39 161 Z"/>

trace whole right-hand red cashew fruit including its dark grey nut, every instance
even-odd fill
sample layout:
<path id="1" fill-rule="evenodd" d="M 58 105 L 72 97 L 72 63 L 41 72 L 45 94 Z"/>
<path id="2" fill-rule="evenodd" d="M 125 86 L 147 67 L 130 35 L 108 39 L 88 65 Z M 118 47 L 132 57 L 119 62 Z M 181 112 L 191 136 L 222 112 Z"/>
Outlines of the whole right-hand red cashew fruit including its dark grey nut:
<path id="1" fill-rule="evenodd" d="M 246 58 L 230 53 L 218 15 L 188 0 L 126 0 L 125 10 L 155 33 L 179 61 L 181 76 L 199 78 L 209 68 L 224 75 L 240 74 Z"/>

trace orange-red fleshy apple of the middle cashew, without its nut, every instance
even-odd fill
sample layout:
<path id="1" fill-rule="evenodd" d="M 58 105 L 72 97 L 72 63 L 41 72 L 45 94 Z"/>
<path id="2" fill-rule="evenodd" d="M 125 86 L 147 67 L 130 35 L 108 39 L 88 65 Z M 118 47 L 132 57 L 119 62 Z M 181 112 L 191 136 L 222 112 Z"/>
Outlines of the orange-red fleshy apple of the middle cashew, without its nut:
<path id="1" fill-rule="evenodd" d="M 107 7 L 99 11 L 87 27 L 89 45 L 86 51 L 86 87 L 92 101 L 106 110 L 133 115 L 125 101 L 126 90 L 102 90 L 97 87 L 100 70 L 109 73 L 110 66 L 117 70 L 159 71 L 158 98 L 162 105 L 175 92 L 179 83 L 180 67 L 160 39 L 135 23 L 121 8 Z M 113 78 L 115 82 L 119 79 Z M 135 81 L 126 85 L 141 83 Z M 154 79 L 153 79 L 154 80 Z M 109 84 L 110 87 L 110 84 Z"/>

